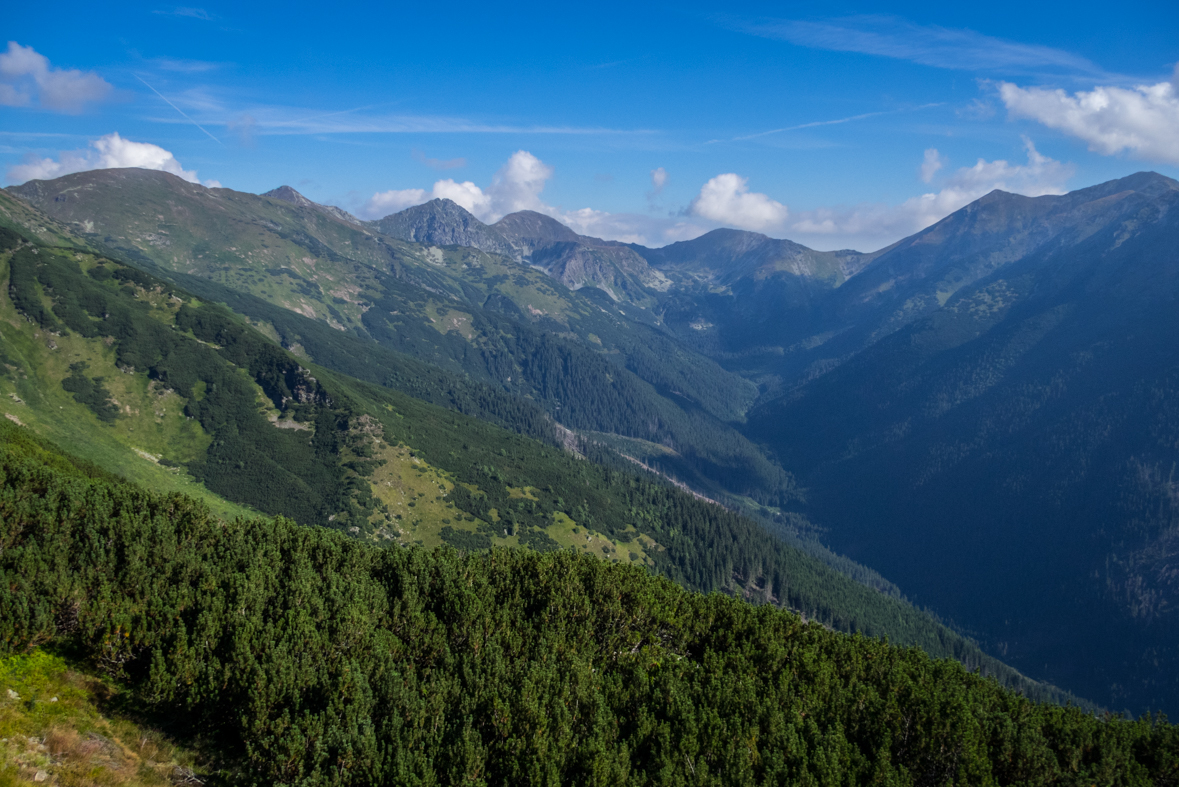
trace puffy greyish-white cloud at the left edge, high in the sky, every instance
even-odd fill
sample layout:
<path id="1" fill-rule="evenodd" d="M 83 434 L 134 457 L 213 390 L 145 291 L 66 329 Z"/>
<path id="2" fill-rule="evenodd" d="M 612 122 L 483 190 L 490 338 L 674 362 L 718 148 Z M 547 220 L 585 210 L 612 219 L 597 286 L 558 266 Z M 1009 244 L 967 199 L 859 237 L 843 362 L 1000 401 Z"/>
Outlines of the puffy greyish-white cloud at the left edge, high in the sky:
<path id="1" fill-rule="evenodd" d="M 8 41 L 8 51 L 0 53 L 0 105 L 28 106 L 35 94 L 38 106 L 55 112 L 81 112 L 86 104 L 101 101 L 113 90 L 92 71 L 52 68 L 44 54 L 15 41 Z"/>

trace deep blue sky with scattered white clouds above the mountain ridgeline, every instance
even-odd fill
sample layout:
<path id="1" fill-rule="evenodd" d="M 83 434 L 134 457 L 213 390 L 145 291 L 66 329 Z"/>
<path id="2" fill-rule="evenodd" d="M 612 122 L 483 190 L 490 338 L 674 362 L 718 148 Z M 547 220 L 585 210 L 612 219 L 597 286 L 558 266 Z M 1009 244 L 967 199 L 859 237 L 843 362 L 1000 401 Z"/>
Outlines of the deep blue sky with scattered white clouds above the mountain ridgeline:
<path id="1" fill-rule="evenodd" d="M 867 250 L 993 187 L 1179 177 L 1174 2 L 272 8 L 6 11 L 5 181 L 139 165 Z"/>

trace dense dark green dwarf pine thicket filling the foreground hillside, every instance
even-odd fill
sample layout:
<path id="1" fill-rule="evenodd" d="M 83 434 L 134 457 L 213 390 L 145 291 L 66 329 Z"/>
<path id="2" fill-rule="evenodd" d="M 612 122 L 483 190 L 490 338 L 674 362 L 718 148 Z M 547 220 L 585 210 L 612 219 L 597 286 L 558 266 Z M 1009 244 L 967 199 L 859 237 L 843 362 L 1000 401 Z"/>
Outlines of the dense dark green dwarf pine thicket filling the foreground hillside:
<path id="1" fill-rule="evenodd" d="M 1162 719 L 568 553 L 381 550 L 0 448 L 0 641 L 127 685 L 236 783 L 1174 785 Z"/>

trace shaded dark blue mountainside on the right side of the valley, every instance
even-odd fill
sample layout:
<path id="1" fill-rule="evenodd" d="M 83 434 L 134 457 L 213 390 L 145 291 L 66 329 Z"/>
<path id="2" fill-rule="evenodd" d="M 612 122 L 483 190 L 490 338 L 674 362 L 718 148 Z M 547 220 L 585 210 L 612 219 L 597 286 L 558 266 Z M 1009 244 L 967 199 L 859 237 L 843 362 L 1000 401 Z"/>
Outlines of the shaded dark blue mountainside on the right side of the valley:
<path id="1" fill-rule="evenodd" d="M 1179 190 L 1088 197 L 1117 220 L 959 289 L 750 429 L 837 550 L 1023 668 L 1174 709 Z"/>

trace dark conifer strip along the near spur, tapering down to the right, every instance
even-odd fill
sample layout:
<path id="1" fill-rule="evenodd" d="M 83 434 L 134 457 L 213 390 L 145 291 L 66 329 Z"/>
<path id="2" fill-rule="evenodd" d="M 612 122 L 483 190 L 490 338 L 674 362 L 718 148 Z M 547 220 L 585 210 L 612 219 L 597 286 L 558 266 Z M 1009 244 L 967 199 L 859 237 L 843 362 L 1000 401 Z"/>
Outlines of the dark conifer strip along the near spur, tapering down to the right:
<path id="1" fill-rule="evenodd" d="M 320 375 L 324 385 L 337 384 L 334 376 Z M 600 447 L 582 447 L 587 462 L 375 385 L 354 382 L 350 396 L 357 406 L 381 417 L 390 442 L 415 447 L 423 459 L 453 474 L 459 483 L 447 498 L 479 520 L 476 529 L 482 533 L 506 530 L 521 536 L 521 543 L 551 548 L 548 536 L 536 531 L 549 525 L 555 512 L 624 543 L 633 525 L 660 545 L 652 555 L 656 569 L 687 588 L 789 606 L 843 631 L 887 636 L 953 656 L 1036 699 L 1074 700 L 1026 679 L 908 603 L 783 543 L 756 522 L 660 480 L 637 476 L 633 465 L 623 467 L 617 455 Z M 477 487 L 479 492 L 463 484 Z M 514 497 L 509 489 L 525 487 L 535 490 L 536 500 Z M 492 509 L 500 518 L 494 524 Z"/>

